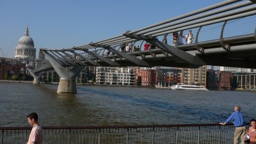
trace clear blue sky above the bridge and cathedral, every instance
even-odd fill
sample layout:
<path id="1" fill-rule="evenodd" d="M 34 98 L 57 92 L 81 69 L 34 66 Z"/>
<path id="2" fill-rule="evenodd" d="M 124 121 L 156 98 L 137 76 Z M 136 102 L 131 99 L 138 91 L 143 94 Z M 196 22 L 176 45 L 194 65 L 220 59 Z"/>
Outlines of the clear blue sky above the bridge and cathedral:
<path id="1" fill-rule="evenodd" d="M 222 0 L 224 1 L 224 0 Z M 122 35 L 221 0 L 1 0 L 0 57 L 14 57 L 26 26 L 36 53 L 63 49 Z M 3 51 L 3 54 L 1 52 Z"/>

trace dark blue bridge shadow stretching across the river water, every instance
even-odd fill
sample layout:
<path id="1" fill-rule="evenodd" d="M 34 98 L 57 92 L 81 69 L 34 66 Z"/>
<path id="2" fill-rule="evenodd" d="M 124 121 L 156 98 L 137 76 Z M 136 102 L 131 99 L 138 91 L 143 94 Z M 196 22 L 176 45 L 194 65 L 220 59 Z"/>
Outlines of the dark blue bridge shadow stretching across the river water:
<path id="1" fill-rule="evenodd" d="M 109 88 L 111 89 L 111 87 Z M 154 91 L 154 89 L 152 90 Z M 223 119 L 223 115 L 226 116 L 225 113 L 220 113 L 220 111 L 214 111 L 214 109 L 206 109 L 200 107 L 198 108 L 196 104 L 182 104 L 182 102 L 177 102 L 177 100 L 175 100 L 175 97 L 173 97 L 173 100 L 163 100 L 159 99 L 159 97 L 156 97 L 156 95 L 154 94 L 148 95 L 147 97 L 140 97 L 140 93 L 134 95 L 134 93 L 110 92 L 104 89 L 102 90 L 100 88 L 92 87 L 79 87 L 79 91 L 86 91 L 94 93 L 95 95 L 100 95 L 101 97 L 115 99 L 116 102 L 122 100 L 124 101 L 124 104 L 129 104 L 138 108 L 143 107 L 149 109 L 149 111 L 156 111 L 156 113 L 162 113 L 163 115 L 175 115 L 176 120 L 182 120 L 183 122 L 202 122 L 203 120 L 209 120 L 209 122 L 212 122 L 212 120 L 214 120 L 214 122 L 220 122 L 220 120 Z M 143 88 L 141 89 L 141 91 L 143 91 Z M 191 96 L 196 94 L 198 94 L 198 92 L 189 92 L 189 95 Z M 200 102 L 200 99 L 198 99 L 198 102 Z"/>

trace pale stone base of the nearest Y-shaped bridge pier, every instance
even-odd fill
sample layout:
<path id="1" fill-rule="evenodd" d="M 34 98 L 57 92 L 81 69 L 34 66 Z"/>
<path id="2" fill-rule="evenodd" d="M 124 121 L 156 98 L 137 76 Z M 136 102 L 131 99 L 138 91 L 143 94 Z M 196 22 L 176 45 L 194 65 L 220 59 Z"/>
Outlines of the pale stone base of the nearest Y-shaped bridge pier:
<path id="1" fill-rule="evenodd" d="M 60 79 L 57 93 L 77 93 L 75 79 Z"/>

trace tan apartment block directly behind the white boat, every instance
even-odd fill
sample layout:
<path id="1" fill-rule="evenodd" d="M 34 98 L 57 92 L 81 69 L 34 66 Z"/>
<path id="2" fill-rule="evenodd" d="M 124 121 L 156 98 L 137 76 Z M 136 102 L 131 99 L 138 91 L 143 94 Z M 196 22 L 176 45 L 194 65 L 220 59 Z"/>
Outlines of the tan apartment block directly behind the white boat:
<path id="1" fill-rule="evenodd" d="M 182 83 L 206 87 L 206 70 L 206 65 L 199 68 L 182 68 Z"/>

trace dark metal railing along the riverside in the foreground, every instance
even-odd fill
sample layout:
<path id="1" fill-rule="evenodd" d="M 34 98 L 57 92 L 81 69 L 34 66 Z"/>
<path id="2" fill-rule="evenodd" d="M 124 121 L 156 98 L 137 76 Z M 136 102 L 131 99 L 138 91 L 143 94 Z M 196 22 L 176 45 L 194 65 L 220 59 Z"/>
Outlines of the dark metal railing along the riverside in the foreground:
<path id="1" fill-rule="evenodd" d="M 248 127 L 248 124 L 246 124 Z M 127 125 L 42 127 L 44 143 L 130 144 L 130 143 L 233 143 L 233 125 Z M 31 127 L 0 127 L 1 144 L 26 143 Z"/>

